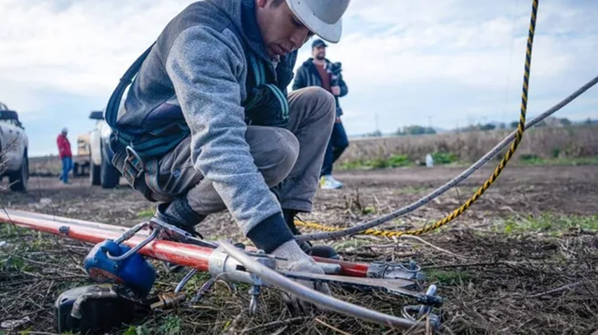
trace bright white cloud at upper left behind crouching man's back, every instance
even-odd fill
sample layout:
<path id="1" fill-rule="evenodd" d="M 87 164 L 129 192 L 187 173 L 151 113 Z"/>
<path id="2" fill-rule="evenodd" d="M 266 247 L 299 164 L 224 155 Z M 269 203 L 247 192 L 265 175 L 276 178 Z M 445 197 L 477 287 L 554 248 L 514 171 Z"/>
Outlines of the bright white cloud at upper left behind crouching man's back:
<path id="1" fill-rule="evenodd" d="M 109 94 L 190 0 L 0 2 L 0 77 L 16 85 Z"/>

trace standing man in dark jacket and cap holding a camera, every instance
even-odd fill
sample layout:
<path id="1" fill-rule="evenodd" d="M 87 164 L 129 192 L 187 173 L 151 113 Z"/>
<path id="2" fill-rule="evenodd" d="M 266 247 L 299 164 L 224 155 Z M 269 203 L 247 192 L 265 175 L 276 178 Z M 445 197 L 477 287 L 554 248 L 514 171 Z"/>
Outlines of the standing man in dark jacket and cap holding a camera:
<path id="1" fill-rule="evenodd" d="M 343 151 L 349 146 L 349 139 L 344 131 L 340 116 L 343 110 L 338 104 L 338 98 L 347 95 L 347 85 L 341 75 L 341 63 L 331 63 L 326 59 L 326 45 L 321 39 L 316 39 L 312 44 L 312 58 L 309 58 L 297 70 L 297 76 L 293 83 L 293 90 L 305 88 L 308 86 L 320 86 L 334 95 L 336 103 L 336 120 L 332 135 L 328 141 L 328 148 L 324 156 L 322 172 L 320 177 L 320 187 L 323 189 L 336 189 L 343 187 L 343 183 L 337 181 L 332 176 L 332 164 L 343 154 Z"/>

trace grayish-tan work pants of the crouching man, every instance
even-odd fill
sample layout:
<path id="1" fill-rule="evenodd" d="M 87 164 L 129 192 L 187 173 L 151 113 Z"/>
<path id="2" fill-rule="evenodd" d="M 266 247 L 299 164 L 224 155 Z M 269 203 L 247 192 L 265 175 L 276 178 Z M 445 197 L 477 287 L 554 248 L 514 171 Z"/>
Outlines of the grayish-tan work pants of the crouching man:
<path id="1" fill-rule="evenodd" d="M 324 89 L 309 87 L 289 93 L 288 102 L 286 129 L 248 126 L 245 139 L 269 187 L 282 182 L 280 206 L 311 212 L 334 124 L 334 98 Z M 194 168 L 190 141 L 185 139 L 160 160 L 158 185 L 166 193 L 185 196 L 191 209 L 200 215 L 220 212 L 226 206 L 212 182 Z"/>

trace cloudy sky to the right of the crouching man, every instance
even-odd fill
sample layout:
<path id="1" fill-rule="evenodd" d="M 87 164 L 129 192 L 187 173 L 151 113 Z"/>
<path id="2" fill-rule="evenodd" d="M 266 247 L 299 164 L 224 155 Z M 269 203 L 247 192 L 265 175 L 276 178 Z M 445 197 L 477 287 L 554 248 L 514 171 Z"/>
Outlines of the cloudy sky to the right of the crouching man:
<path id="1" fill-rule="evenodd" d="M 530 111 L 550 107 L 598 73 L 598 26 L 591 24 L 598 8 L 586 5 L 541 5 Z M 372 111 L 383 131 L 427 124 L 428 116 L 443 128 L 515 119 L 529 14 L 521 1 L 353 2 L 346 20 L 352 26 L 328 49 L 349 85 L 341 99 L 348 131 L 373 131 Z M 309 47 L 302 51 L 308 57 Z M 584 105 L 586 115 L 591 108 L 596 114 L 595 101 Z"/>

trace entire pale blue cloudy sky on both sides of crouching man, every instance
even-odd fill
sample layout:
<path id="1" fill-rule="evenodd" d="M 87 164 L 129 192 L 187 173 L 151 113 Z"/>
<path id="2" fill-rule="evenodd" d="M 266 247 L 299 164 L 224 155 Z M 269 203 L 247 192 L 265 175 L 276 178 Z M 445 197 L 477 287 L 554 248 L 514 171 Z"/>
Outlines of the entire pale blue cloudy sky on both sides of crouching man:
<path id="1" fill-rule="evenodd" d="M 0 0 L 0 101 L 19 111 L 30 154 L 88 132 L 124 70 L 191 0 Z M 517 118 L 531 1 L 353 0 L 343 63 L 349 134 L 411 124 L 450 129 Z M 533 116 L 598 75 L 598 2 L 542 0 L 530 79 Z M 300 51 L 300 62 L 309 57 Z M 598 89 L 559 112 L 598 117 Z M 377 120 L 377 122 L 376 122 Z M 75 147 L 74 147 L 75 149 Z"/>

